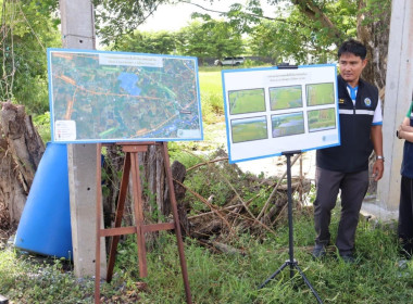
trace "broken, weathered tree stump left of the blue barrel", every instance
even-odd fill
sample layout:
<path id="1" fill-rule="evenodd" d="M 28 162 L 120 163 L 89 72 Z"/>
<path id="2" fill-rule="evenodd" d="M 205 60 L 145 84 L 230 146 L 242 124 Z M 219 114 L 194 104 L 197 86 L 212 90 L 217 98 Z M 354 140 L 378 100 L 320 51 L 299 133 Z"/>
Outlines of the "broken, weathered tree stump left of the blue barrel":
<path id="1" fill-rule="evenodd" d="M 45 144 L 23 105 L 1 103 L 0 212 L 9 211 L 9 224 L 20 220 Z"/>

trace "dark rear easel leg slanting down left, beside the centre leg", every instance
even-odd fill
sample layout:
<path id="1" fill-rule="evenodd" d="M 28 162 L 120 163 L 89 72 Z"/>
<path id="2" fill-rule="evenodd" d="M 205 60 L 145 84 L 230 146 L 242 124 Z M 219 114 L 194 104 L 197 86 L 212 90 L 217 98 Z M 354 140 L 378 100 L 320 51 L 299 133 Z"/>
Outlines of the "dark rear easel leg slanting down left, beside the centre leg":
<path id="1" fill-rule="evenodd" d="M 120 189 L 120 194 L 118 194 L 118 200 L 117 200 L 116 217 L 115 217 L 115 224 L 114 224 L 115 228 L 121 227 L 122 225 L 122 216 L 125 208 L 125 200 L 127 195 L 127 186 L 129 183 L 129 174 L 130 174 L 130 153 L 126 153 L 124 166 L 123 166 L 121 189 Z M 116 249 L 117 249 L 118 241 L 120 241 L 120 236 L 114 236 L 112 238 L 111 249 L 109 253 L 109 262 L 108 262 L 108 274 L 107 274 L 108 282 L 112 281 L 113 268 L 115 266 Z"/>

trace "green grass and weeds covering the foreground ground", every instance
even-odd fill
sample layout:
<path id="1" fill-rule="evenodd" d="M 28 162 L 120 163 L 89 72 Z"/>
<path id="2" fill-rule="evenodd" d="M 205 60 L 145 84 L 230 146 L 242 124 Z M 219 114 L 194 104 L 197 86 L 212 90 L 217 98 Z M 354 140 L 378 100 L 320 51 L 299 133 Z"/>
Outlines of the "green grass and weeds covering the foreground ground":
<path id="1" fill-rule="evenodd" d="M 337 230 L 336 210 L 331 232 Z M 286 224 L 286 223 L 284 223 Z M 330 252 L 313 261 L 312 216 L 295 215 L 295 257 L 324 303 L 410 303 L 413 264 L 398 267 L 398 245 L 391 226 L 362 220 L 356 236 L 356 263 L 346 264 Z M 241 254 L 214 254 L 187 239 L 186 262 L 195 303 L 316 303 L 299 275 L 288 267 L 263 289 L 258 287 L 288 259 L 288 228 L 259 241 L 245 233 L 231 245 Z M 102 284 L 104 303 L 185 303 L 176 239 L 162 233 L 148 254 L 149 277 L 139 279 L 134 237 L 120 246 L 114 280 Z M 0 251 L 0 294 L 11 303 L 91 303 L 93 281 L 78 280 L 64 270 L 64 262 L 39 263 L 12 249 Z M 139 283 L 138 283 L 139 282 Z M 141 287 L 145 287 L 143 289 Z"/>

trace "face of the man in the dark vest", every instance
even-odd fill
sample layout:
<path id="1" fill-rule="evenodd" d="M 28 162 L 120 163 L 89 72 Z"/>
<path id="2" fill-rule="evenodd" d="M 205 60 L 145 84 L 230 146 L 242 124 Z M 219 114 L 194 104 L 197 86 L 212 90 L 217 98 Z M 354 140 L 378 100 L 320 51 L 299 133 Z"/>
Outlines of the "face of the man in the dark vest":
<path id="1" fill-rule="evenodd" d="M 359 78 L 363 68 L 365 67 L 367 60 L 362 60 L 360 56 L 353 53 L 343 53 L 338 60 L 340 67 L 340 75 L 346 83 L 352 87 L 359 84 Z"/>

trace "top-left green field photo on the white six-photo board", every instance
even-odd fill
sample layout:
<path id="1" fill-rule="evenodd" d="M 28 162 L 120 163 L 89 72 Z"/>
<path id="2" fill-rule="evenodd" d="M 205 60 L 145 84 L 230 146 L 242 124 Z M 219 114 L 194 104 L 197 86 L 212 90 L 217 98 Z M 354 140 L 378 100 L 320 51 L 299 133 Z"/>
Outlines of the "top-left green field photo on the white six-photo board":
<path id="1" fill-rule="evenodd" d="M 264 89 L 228 91 L 228 97 L 231 115 L 265 111 Z"/>

